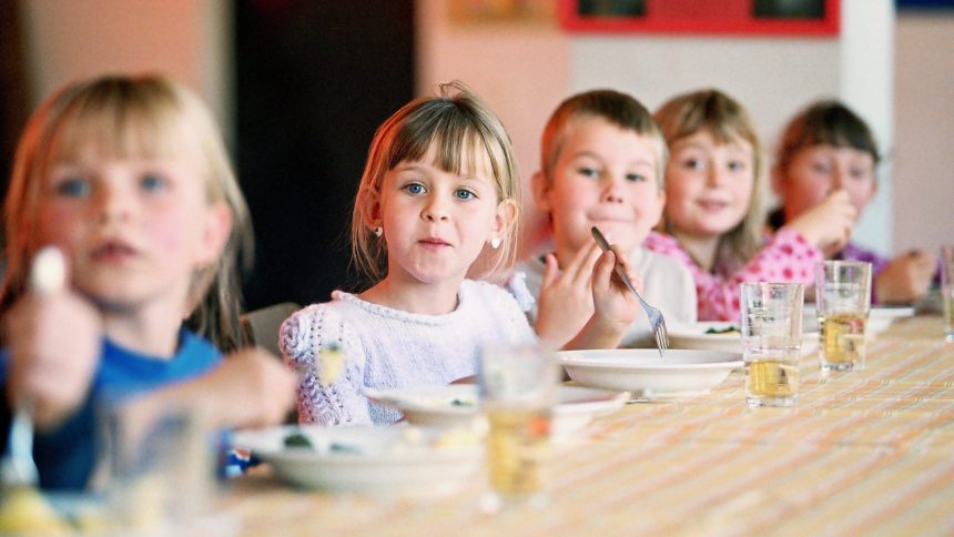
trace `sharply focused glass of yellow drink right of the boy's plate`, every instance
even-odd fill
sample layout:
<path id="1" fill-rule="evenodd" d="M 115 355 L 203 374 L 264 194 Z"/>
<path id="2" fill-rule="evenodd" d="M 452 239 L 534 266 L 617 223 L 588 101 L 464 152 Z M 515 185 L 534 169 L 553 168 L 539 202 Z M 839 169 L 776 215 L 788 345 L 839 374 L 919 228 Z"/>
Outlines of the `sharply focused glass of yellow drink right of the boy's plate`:
<path id="1" fill-rule="evenodd" d="M 798 402 L 803 303 L 804 288 L 800 283 L 741 285 L 742 356 L 749 406 L 792 406 Z"/>

